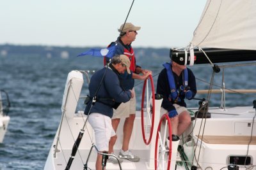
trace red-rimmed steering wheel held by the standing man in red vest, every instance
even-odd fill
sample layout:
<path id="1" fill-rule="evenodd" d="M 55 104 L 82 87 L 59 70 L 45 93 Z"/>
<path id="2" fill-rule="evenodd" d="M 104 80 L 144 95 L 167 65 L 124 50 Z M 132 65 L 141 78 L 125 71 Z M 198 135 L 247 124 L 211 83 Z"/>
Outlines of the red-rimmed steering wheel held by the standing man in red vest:
<path id="1" fill-rule="evenodd" d="M 151 82 L 151 94 L 148 94 L 148 79 Z M 146 97 L 145 97 L 146 91 Z M 144 99 L 146 103 L 144 104 Z M 144 117 L 144 111 L 147 113 Z M 145 120 L 144 120 L 145 119 Z M 152 139 L 153 129 L 154 129 L 154 119 L 155 119 L 155 89 L 154 89 L 154 81 L 152 75 L 149 75 L 147 80 L 144 81 L 143 91 L 142 91 L 142 99 L 141 99 L 141 129 L 143 141 L 146 145 L 148 145 Z M 145 121 L 145 124 L 144 124 Z M 148 128 L 149 127 L 149 128 Z M 150 129 L 150 134 L 148 139 L 146 139 L 145 131 Z"/>

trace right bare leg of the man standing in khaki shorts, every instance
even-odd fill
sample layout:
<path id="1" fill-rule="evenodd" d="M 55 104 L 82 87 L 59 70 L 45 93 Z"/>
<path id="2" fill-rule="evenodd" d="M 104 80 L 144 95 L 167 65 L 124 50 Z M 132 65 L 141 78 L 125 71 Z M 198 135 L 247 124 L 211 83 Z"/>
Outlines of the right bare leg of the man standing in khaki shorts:
<path id="1" fill-rule="evenodd" d="M 132 135 L 133 124 L 135 120 L 135 114 L 131 114 L 129 117 L 125 118 L 124 122 L 124 140 L 122 150 L 127 151 L 129 149 L 129 142 Z"/>

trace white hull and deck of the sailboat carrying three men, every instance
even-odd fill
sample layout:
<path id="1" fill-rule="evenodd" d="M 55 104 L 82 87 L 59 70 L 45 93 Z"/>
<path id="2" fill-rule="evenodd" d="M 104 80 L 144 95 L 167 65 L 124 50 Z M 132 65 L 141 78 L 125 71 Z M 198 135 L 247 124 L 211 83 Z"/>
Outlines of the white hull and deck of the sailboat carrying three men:
<path id="1" fill-rule="evenodd" d="M 81 80 L 79 73 L 77 72 L 72 74 L 74 74 L 74 77 L 72 78 L 68 76 L 65 94 L 63 95 L 63 98 L 65 98 L 63 99 L 64 104 L 62 106 L 64 113 L 63 121 L 62 124 L 60 124 L 54 141 L 51 145 L 51 150 L 45 163 L 45 170 L 65 169 L 68 159 L 70 159 L 72 148 L 77 139 L 77 136 L 81 129 L 83 129 L 84 122 L 86 122 L 86 115 L 83 114 L 83 111 L 78 111 L 78 113 L 75 113 L 74 101 L 70 100 L 70 97 L 76 99 L 79 98 L 78 96 L 81 92 L 80 89 L 83 85 L 83 83 L 81 83 L 83 81 Z M 70 88 L 70 85 L 72 85 L 72 88 Z M 154 155 L 156 147 L 157 125 L 160 120 L 160 106 L 161 100 L 156 100 L 156 116 L 154 121 L 155 125 L 150 145 L 145 145 L 143 141 L 141 132 L 141 113 L 140 111 L 136 112 L 136 120 L 134 122 L 134 129 L 132 131 L 129 148 L 134 154 L 140 157 L 140 162 L 129 162 L 129 160 L 124 160 L 124 162 L 121 163 L 122 169 L 155 169 Z M 72 110 L 74 111 L 73 113 L 71 113 Z M 65 114 L 65 111 L 68 111 L 67 115 Z M 197 109 L 191 109 L 191 111 L 195 112 Z M 183 134 L 183 137 L 185 138 L 180 140 L 180 145 L 184 146 L 184 152 L 188 156 L 187 164 L 193 163 L 193 165 L 198 166 L 198 169 L 221 169 L 223 167 L 227 167 L 229 164 L 232 164 L 234 161 L 233 157 L 244 159 L 244 157 L 248 155 L 248 157 L 250 157 L 250 164 L 255 165 L 256 127 L 255 125 L 253 126 L 255 120 L 252 122 L 253 117 L 255 117 L 255 108 L 237 107 L 226 108 L 225 110 L 213 108 L 209 109 L 209 112 L 211 112 L 211 118 L 196 118 L 193 120 L 191 127 Z M 118 131 L 116 132 L 118 139 L 115 145 L 115 153 L 118 153 L 122 147 L 123 124 L 124 120 L 120 122 Z M 204 127 L 204 131 L 203 129 L 200 130 L 200 127 Z M 144 128 L 150 129 L 150 127 Z M 148 138 L 149 134 L 150 131 L 146 131 L 146 138 Z M 193 140 L 186 142 L 186 136 L 189 134 Z M 203 138 L 202 135 L 204 136 Z M 198 136 L 200 138 L 198 138 Z M 248 149 L 249 139 L 251 136 L 252 141 Z M 182 136 L 180 138 L 182 138 Z M 236 141 L 240 138 L 243 139 L 241 139 L 241 141 Z M 87 123 L 83 138 L 81 139 L 81 143 L 74 157 L 74 161 L 70 166 L 70 169 L 83 169 L 85 164 L 87 167 L 90 167 L 90 169 L 95 168 L 95 160 L 97 156 L 95 148 L 93 148 L 92 154 L 88 158 L 93 143 L 95 143 L 94 132 L 90 124 Z M 57 151 L 55 152 L 56 146 Z M 195 151 L 193 151 L 193 148 Z M 194 159 L 193 153 L 195 153 Z M 167 162 L 167 159 L 164 161 Z M 163 164 L 164 161 L 162 162 Z M 176 157 L 172 157 L 171 169 L 174 169 L 176 163 L 177 169 L 186 169 L 184 167 L 186 164 L 185 161 L 180 159 L 177 160 Z M 240 164 L 239 167 L 240 169 L 246 169 L 243 164 Z M 108 162 L 106 169 L 120 168 L 118 164 L 112 164 Z M 166 169 L 166 167 L 159 166 L 157 169 Z M 252 167 L 252 169 L 256 169 L 256 167 Z"/>

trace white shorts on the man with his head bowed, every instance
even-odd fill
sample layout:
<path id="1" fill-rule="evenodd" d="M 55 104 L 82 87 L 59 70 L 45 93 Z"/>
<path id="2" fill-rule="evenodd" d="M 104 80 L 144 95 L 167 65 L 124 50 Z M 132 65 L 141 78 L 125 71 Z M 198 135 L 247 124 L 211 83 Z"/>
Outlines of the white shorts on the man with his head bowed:
<path id="1" fill-rule="evenodd" d="M 109 139 L 116 134 L 111 124 L 111 118 L 101 113 L 90 113 L 88 122 L 94 130 L 97 149 L 108 151 Z"/>

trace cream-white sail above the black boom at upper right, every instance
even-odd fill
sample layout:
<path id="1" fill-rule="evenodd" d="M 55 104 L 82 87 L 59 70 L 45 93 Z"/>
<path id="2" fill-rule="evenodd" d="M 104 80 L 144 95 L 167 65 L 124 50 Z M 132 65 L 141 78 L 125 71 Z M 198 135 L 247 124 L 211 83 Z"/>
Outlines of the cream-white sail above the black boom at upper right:
<path id="1" fill-rule="evenodd" d="M 256 50 L 255 9 L 255 0 L 208 0 L 191 45 Z"/>

